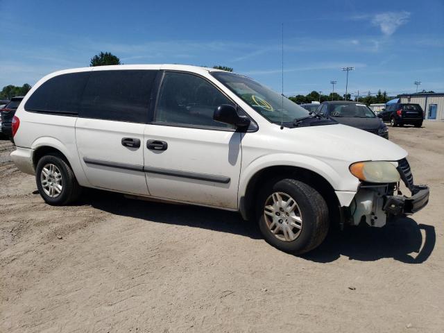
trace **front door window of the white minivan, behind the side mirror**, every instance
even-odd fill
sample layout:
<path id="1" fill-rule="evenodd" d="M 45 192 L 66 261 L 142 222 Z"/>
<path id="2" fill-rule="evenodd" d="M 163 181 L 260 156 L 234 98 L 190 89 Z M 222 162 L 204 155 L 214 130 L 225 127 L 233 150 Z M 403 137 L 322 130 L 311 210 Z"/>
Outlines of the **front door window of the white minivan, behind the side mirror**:
<path id="1" fill-rule="evenodd" d="M 154 121 L 185 126 L 233 128 L 213 120 L 221 104 L 233 104 L 207 80 L 193 74 L 166 72 Z"/>

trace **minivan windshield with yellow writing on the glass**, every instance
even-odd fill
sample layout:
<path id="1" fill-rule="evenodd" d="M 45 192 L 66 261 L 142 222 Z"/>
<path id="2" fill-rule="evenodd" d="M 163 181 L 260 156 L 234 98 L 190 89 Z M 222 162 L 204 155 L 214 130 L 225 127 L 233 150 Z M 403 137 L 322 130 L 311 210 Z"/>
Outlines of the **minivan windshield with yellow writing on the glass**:
<path id="1" fill-rule="evenodd" d="M 282 108 L 282 95 L 250 78 L 224 71 L 214 71 L 211 74 L 272 123 L 281 123 L 281 117 L 283 123 L 293 123 L 296 118 L 309 115 L 309 111 L 287 97 L 283 99 Z"/>

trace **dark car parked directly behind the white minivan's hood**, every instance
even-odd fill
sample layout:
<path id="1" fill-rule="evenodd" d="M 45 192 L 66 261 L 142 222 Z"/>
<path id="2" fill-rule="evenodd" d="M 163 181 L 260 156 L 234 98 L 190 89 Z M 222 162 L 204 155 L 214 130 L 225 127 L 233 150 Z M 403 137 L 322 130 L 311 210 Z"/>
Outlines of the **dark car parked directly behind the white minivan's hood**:
<path id="1" fill-rule="evenodd" d="M 317 112 L 331 117 L 338 123 L 366 130 L 388 139 L 386 124 L 365 104 L 352 101 L 329 101 L 321 103 Z"/>

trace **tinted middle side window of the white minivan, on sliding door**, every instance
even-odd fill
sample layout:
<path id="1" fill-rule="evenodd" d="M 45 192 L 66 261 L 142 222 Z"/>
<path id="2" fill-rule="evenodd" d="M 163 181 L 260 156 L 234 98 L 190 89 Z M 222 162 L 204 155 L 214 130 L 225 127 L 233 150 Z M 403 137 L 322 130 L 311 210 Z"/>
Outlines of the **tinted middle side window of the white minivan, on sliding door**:
<path id="1" fill-rule="evenodd" d="M 79 117 L 146 123 L 151 89 L 158 71 L 92 71 Z"/>

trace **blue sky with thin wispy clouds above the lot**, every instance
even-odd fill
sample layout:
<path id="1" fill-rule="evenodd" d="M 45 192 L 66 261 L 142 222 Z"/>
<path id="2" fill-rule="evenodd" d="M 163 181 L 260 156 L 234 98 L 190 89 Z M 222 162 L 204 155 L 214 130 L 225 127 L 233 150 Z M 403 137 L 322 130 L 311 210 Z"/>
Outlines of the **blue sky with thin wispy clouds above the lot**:
<path id="1" fill-rule="evenodd" d="M 444 1 L 0 0 L 0 89 L 85 67 L 227 65 L 284 93 L 444 92 Z"/>

